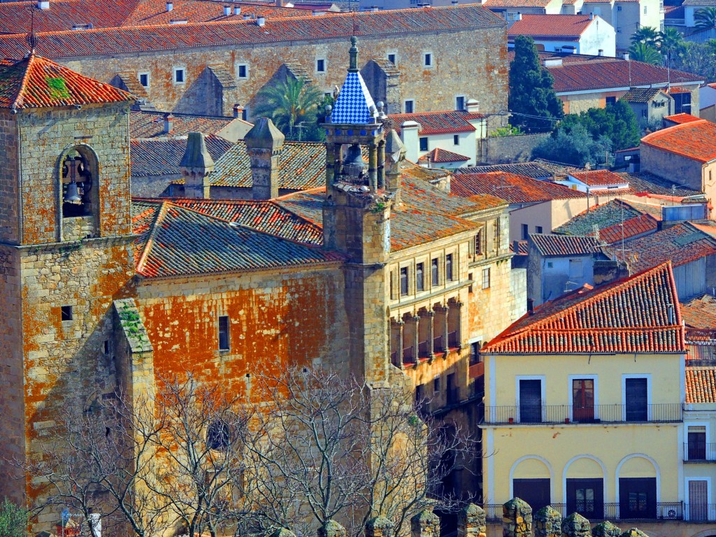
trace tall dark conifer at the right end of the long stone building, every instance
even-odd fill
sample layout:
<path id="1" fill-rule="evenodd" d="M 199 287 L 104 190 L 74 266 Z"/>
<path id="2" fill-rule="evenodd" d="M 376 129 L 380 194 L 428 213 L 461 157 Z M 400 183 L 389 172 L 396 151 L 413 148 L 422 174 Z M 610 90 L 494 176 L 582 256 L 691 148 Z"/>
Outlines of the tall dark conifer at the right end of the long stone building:
<path id="1" fill-rule="evenodd" d="M 552 75 L 540 65 L 533 40 L 516 37 L 515 59 L 510 64 L 511 125 L 526 130 L 552 130 L 553 120 L 564 115 L 553 84 Z"/>

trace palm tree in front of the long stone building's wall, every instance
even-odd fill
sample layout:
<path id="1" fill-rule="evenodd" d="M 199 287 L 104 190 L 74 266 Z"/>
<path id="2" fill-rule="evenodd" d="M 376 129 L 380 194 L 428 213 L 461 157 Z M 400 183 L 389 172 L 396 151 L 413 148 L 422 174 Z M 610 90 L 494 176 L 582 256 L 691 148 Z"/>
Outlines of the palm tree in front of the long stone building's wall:
<path id="1" fill-rule="evenodd" d="M 253 111 L 256 117 L 271 118 L 289 140 L 296 140 L 294 131 L 304 128 L 301 123 L 316 122 L 323 95 L 304 79 L 289 77 L 263 87 L 256 95 L 256 102 Z"/>

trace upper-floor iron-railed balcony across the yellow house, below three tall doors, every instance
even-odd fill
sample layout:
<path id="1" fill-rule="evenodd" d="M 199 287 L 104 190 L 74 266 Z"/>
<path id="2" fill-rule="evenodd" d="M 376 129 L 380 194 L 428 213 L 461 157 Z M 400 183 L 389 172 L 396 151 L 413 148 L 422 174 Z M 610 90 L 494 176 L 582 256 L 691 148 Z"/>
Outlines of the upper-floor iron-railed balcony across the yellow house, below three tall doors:
<path id="1" fill-rule="evenodd" d="M 536 424 L 536 423 L 625 423 L 625 422 L 681 422 L 681 403 L 657 405 L 519 405 L 485 407 L 484 423 Z"/>

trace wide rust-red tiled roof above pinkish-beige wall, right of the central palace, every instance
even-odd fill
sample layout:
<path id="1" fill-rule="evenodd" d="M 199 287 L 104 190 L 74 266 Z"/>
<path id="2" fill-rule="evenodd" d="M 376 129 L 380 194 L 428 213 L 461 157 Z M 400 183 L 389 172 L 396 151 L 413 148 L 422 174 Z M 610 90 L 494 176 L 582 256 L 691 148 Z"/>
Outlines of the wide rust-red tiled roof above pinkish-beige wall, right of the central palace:
<path id="1" fill-rule="evenodd" d="M 450 181 L 450 190 L 465 198 L 475 194 L 489 194 L 509 203 L 538 203 L 586 197 L 586 194 L 579 190 L 507 172 L 458 173 Z"/>

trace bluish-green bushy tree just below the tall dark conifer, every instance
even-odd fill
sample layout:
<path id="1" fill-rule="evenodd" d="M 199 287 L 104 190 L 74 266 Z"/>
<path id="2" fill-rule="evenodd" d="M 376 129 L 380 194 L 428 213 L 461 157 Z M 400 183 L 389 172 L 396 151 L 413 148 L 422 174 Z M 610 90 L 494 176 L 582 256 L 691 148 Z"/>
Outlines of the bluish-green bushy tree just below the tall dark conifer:
<path id="1" fill-rule="evenodd" d="M 561 163 L 584 166 L 603 163 L 611 142 L 606 136 L 594 140 L 584 125 L 560 125 L 550 137 L 532 151 L 533 158 L 545 158 Z"/>

